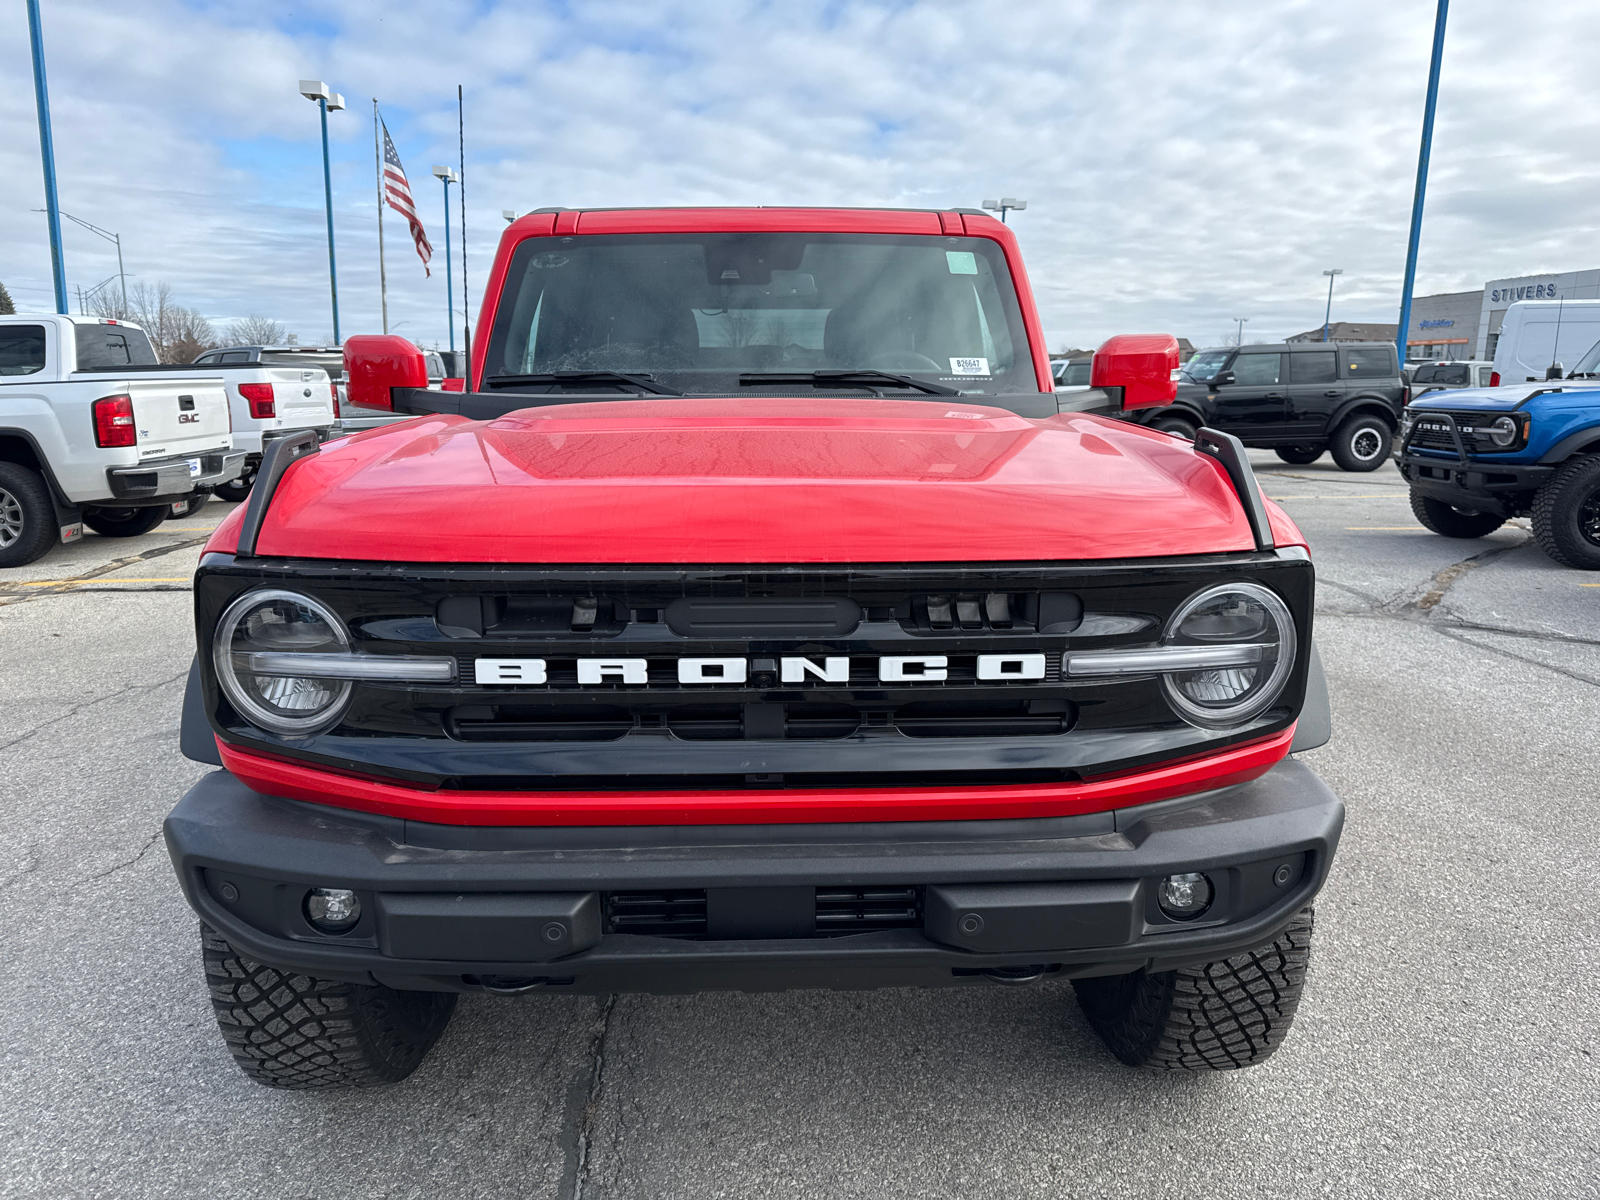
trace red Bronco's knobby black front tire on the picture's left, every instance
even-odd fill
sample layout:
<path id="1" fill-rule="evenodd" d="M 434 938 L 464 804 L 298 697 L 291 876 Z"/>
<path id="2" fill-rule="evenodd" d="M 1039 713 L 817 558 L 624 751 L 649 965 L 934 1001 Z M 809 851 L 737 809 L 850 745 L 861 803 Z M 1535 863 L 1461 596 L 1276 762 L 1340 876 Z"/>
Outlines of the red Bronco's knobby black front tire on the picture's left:
<path id="1" fill-rule="evenodd" d="M 200 926 L 211 1008 L 234 1061 L 267 1088 L 381 1088 L 427 1056 L 453 992 L 397 992 L 280 971 Z"/>

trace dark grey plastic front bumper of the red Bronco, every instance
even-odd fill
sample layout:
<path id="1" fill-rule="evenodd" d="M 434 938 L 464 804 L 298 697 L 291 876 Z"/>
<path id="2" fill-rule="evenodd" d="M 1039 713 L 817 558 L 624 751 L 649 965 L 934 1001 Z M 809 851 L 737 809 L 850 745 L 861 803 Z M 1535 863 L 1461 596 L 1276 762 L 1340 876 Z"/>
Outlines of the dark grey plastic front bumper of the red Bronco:
<path id="1" fill-rule="evenodd" d="M 605 994 L 1213 962 L 1272 941 L 1310 902 L 1342 824 L 1338 797 L 1285 760 L 1254 782 L 1083 816 L 758 827 L 438 826 L 270 798 L 216 771 L 165 832 L 189 904 L 250 958 L 400 989 Z M 1216 888 L 1192 922 L 1155 904 L 1181 872 Z M 304 917 L 312 886 L 354 890 L 355 928 L 318 933 Z M 867 907 L 909 894 L 914 917 L 827 936 L 848 928 L 826 920 L 851 894 Z M 702 925 L 618 931 L 640 896 L 699 904 Z"/>

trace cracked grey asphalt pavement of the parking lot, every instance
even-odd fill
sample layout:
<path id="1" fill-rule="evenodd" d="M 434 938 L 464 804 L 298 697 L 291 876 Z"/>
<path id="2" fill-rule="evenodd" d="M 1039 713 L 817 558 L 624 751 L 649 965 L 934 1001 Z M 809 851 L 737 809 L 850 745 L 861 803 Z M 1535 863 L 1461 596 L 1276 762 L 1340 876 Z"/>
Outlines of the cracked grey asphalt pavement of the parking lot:
<path id="1" fill-rule="evenodd" d="M 1318 563 L 1349 805 L 1288 1043 L 1117 1064 L 1067 986 L 464 997 L 411 1080 L 234 1067 L 160 821 L 229 506 L 0 573 L 0 1195 L 1600 1197 L 1600 574 L 1253 453 Z"/>

